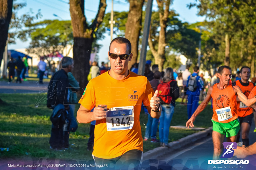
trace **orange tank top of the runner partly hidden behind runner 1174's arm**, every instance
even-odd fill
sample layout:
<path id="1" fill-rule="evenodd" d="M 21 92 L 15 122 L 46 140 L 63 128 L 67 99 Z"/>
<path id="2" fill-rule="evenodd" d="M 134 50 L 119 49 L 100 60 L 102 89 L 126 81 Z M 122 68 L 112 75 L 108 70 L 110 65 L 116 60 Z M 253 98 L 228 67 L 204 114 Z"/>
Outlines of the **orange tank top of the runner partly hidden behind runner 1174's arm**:
<path id="1" fill-rule="evenodd" d="M 236 85 L 238 85 L 243 94 L 246 95 L 246 97 L 248 98 L 249 94 L 251 93 L 252 89 L 253 89 L 253 84 L 251 82 L 249 82 L 248 86 L 243 86 L 239 80 L 236 81 Z M 247 107 L 243 102 L 237 102 L 237 115 L 239 117 L 245 117 L 247 115 L 250 115 L 253 113 L 253 109 L 251 107 Z"/>

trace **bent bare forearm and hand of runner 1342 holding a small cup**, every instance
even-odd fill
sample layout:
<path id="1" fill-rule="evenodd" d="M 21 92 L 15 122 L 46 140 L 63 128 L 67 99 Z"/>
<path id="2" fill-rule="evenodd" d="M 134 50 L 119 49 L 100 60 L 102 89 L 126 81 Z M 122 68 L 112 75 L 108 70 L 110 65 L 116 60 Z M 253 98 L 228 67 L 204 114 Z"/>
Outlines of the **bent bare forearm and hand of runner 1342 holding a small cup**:
<path id="1" fill-rule="evenodd" d="M 101 120 L 106 118 L 106 111 L 101 107 L 95 107 L 93 112 L 80 105 L 77 111 L 77 121 L 79 123 L 90 123 L 94 120 Z"/>

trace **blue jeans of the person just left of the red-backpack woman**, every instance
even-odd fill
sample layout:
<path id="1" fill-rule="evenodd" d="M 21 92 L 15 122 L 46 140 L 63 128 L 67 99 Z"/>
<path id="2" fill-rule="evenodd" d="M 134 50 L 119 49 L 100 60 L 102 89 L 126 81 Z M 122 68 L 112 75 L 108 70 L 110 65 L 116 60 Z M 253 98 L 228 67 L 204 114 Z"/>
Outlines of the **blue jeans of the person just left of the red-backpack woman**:
<path id="1" fill-rule="evenodd" d="M 155 118 L 151 117 L 150 114 L 148 114 L 147 125 L 146 125 L 147 127 L 146 127 L 146 132 L 145 132 L 146 139 L 148 139 L 150 136 L 151 136 L 151 139 L 156 138 L 158 121 L 159 121 L 159 119 L 155 119 Z"/>

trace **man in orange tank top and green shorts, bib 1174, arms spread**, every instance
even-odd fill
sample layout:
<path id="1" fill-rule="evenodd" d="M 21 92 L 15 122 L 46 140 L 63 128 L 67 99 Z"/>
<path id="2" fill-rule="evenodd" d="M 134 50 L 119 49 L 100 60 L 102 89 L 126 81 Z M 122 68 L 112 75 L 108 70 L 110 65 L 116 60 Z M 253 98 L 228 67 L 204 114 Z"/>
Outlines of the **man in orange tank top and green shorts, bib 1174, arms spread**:
<path id="1" fill-rule="evenodd" d="M 227 142 L 235 142 L 239 131 L 239 120 L 237 119 L 236 95 L 239 100 L 246 103 L 246 106 L 251 106 L 256 102 L 256 98 L 248 99 L 239 86 L 229 84 L 231 78 L 231 68 L 221 66 L 218 69 L 218 77 L 220 82 L 211 86 L 208 90 L 206 98 L 198 106 L 194 114 L 187 121 L 186 126 L 194 127 L 193 122 L 196 116 L 203 111 L 208 102 L 213 99 L 213 116 L 212 116 L 212 142 L 214 146 L 213 159 L 219 159 L 222 152 L 222 142 L 224 137 L 227 137 Z"/>

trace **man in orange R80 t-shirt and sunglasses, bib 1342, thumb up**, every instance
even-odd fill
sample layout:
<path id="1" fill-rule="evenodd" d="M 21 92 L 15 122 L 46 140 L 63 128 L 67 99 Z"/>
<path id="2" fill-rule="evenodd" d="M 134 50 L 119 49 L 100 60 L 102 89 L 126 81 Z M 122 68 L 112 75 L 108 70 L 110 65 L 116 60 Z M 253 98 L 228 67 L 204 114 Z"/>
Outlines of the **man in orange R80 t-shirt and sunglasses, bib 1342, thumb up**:
<path id="1" fill-rule="evenodd" d="M 134 164 L 139 168 L 143 152 L 141 104 L 153 118 L 159 118 L 158 90 L 154 93 L 145 76 L 128 70 L 132 59 L 129 40 L 115 38 L 110 43 L 108 56 L 111 70 L 89 81 L 79 101 L 77 120 L 79 123 L 96 120 L 92 152 L 96 166 L 107 164 L 105 168 L 108 168 L 114 164 L 115 169 L 121 169 Z M 108 112 L 98 107 L 99 104 L 107 105 Z"/>

